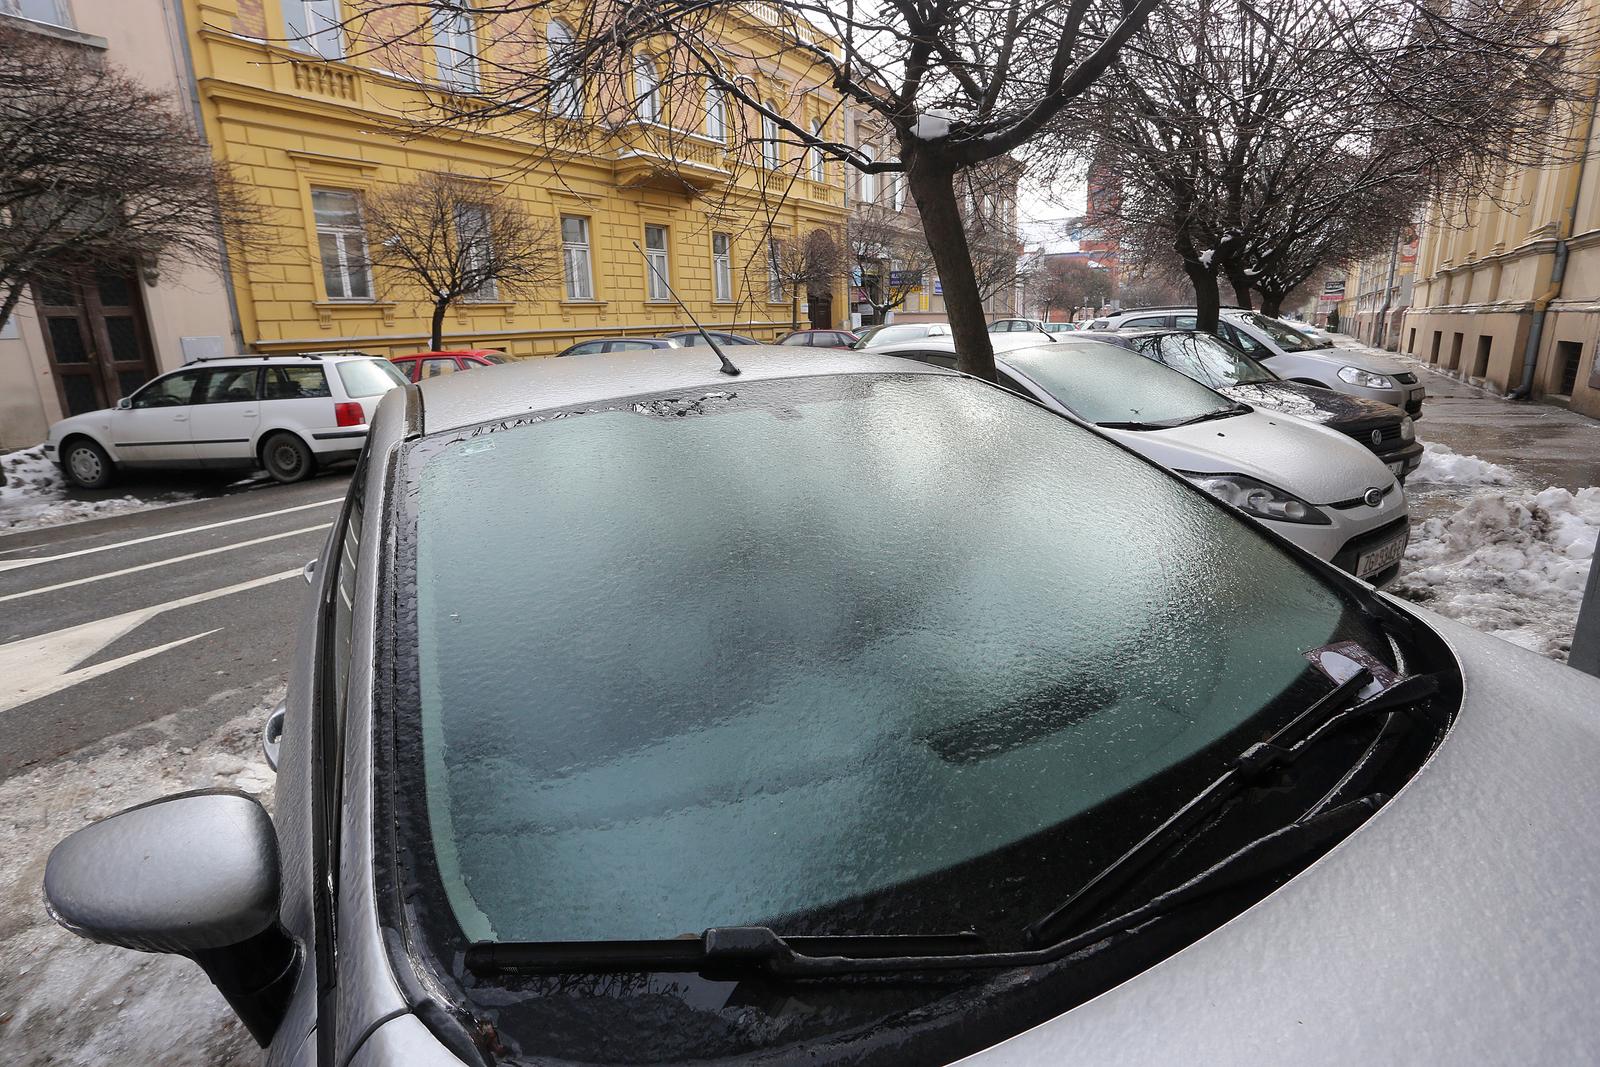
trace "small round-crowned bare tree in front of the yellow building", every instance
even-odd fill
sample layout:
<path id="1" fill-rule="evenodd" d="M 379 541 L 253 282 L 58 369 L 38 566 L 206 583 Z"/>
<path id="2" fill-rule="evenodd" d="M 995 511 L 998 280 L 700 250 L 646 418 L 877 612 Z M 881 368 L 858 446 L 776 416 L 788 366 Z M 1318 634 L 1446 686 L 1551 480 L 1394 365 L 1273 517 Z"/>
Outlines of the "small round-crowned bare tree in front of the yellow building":
<path id="1" fill-rule="evenodd" d="M 560 278 L 550 226 L 482 181 L 421 174 L 370 195 L 363 221 L 379 282 L 427 294 L 434 350 L 451 304 L 530 298 Z"/>

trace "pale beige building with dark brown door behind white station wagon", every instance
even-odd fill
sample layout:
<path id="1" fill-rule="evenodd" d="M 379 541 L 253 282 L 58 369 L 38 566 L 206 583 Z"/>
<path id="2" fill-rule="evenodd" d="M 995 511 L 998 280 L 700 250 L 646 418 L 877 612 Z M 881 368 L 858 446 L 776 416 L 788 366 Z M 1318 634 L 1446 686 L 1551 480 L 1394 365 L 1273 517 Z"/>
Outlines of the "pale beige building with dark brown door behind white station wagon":
<path id="1" fill-rule="evenodd" d="M 0 0 L 0 19 L 102 53 L 194 117 L 186 35 L 165 0 Z M 53 421 L 112 405 L 186 357 L 235 350 L 226 290 L 206 270 L 102 270 L 34 286 L 0 328 L 0 451 L 38 443 Z"/>

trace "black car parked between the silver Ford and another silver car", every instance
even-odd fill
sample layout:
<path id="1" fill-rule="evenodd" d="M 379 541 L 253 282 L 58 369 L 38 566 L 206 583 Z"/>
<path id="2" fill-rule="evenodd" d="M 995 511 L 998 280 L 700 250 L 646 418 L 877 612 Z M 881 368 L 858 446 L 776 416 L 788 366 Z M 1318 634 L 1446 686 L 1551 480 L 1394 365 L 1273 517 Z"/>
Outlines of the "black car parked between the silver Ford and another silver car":
<path id="1" fill-rule="evenodd" d="M 1118 330 L 1141 355 L 1254 408 L 1326 426 L 1370 448 L 1405 483 L 1422 462 L 1416 426 L 1400 408 L 1320 386 L 1286 382 L 1234 346 L 1197 330 Z M 1115 334 L 1086 334 L 1106 338 Z"/>

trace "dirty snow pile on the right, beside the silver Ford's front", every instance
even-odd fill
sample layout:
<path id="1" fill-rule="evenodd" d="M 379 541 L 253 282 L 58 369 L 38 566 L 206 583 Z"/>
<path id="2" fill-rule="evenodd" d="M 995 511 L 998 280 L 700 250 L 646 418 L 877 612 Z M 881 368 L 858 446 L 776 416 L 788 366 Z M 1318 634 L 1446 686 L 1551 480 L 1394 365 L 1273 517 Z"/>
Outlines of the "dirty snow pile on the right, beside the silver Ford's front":
<path id="1" fill-rule="evenodd" d="M 1600 488 L 1480 493 L 1413 528 L 1389 592 L 1565 661 L 1597 536 Z"/>

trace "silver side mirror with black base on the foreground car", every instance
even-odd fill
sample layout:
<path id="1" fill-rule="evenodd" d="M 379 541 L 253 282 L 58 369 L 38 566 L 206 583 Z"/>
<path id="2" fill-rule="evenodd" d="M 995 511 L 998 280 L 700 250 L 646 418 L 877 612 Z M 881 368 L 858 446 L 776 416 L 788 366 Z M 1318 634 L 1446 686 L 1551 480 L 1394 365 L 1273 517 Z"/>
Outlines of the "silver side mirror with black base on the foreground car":
<path id="1" fill-rule="evenodd" d="M 277 833 L 254 797 L 176 793 L 83 827 L 51 849 L 45 904 L 80 937 L 189 957 L 270 1043 L 299 950 L 277 921 Z"/>

